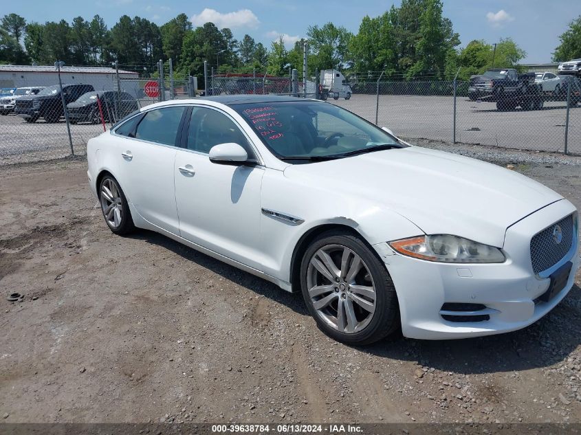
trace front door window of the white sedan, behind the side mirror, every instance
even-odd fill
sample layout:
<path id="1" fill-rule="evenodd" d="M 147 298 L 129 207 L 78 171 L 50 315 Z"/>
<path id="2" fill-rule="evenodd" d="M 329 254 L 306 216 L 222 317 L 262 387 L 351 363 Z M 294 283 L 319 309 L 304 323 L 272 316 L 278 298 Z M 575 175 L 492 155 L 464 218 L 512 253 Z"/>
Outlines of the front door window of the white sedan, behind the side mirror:
<path id="1" fill-rule="evenodd" d="M 206 107 L 194 107 L 188 126 L 188 143 L 186 148 L 198 153 L 208 154 L 210 148 L 219 144 L 234 142 L 254 155 L 246 137 L 228 116 Z"/>

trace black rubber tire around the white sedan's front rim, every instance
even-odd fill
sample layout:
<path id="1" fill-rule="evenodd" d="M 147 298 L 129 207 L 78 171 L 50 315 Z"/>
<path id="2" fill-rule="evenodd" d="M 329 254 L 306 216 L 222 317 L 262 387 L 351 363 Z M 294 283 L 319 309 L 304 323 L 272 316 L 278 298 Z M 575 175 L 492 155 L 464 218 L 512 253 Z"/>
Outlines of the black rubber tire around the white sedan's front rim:
<path id="1" fill-rule="evenodd" d="M 339 331 L 338 328 L 329 325 L 318 314 L 318 311 L 313 306 L 311 296 L 309 295 L 309 289 L 307 288 L 307 274 L 309 273 L 309 263 L 311 262 L 311 258 L 314 257 L 319 249 L 335 245 L 338 245 L 341 248 L 347 247 L 353 253 L 357 254 L 363 261 L 366 270 L 369 271 L 369 275 L 371 275 L 371 279 L 373 280 L 372 285 L 375 289 L 375 309 L 372 314 L 369 314 L 371 319 L 364 324 L 364 327 L 362 327 L 360 331 L 345 333 Z M 360 271 L 363 271 L 364 276 L 367 278 L 365 270 L 360 269 Z M 307 309 L 314 317 L 317 326 L 325 334 L 336 339 L 338 342 L 355 346 L 364 346 L 366 344 L 377 342 L 380 339 L 384 339 L 388 335 L 397 333 L 397 331 L 400 330 L 399 304 L 397 302 L 397 294 L 395 293 L 395 286 L 393 285 L 391 276 L 389 276 L 384 263 L 382 263 L 377 254 L 373 252 L 372 248 L 362 241 L 361 238 L 355 236 L 355 234 L 341 230 L 331 230 L 320 234 L 320 236 L 309 245 L 305 255 L 303 256 L 303 260 L 301 261 L 300 287 L 303 292 L 305 304 L 307 304 Z M 337 292 L 338 289 L 335 289 L 335 291 Z M 344 296 L 344 294 L 339 295 L 338 293 L 338 298 L 340 298 L 340 296 Z M 351 303 L 353 304 L 353 302 Z M 331 304 L 329 304 L 329 309 L 331 309 Z M 361 313 L 364 313 L 363 310 L 360 311 Z"/>

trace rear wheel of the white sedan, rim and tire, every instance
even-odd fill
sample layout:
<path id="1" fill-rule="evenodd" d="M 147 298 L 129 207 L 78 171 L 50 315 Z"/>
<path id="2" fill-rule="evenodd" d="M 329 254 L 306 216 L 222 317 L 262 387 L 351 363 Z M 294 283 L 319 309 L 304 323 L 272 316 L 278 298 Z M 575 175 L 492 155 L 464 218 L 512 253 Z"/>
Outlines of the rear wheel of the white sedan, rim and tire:
<path id="1" fill-rule="evenodd" d="M 107 226 L 120 236 L 135 230 L 123 190 L 111 175 L 105 175 L 99 185 L 99 201 Z"/>

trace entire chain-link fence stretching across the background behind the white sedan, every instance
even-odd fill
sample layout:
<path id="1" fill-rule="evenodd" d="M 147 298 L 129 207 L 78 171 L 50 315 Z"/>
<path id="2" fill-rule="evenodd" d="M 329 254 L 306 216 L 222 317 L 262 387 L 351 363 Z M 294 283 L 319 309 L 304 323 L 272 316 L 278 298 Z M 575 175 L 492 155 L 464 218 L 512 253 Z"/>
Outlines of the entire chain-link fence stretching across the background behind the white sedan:
<path id="1" fill-rule="evenodd" d="M 84 155 L 91 137 L 132 111 L 197 95 L 197 80 L 175 78 L 167 64 L 153 65 L 146 72 L 147 76 L 102 74 L 91 80 L 63 80 L 62 85 L 54 74 L 50 85 L 35 90 L 38 95 L 0 96 L 0 165 Z M 206 80 L 208 95 L 324 98 L 318 80 L 307 80 L 305 87 L 296 72 L 285 77 L 208 74 Z M 474 82 L 355 76 L 349 80 L 349 92 L 329 97 L 328 102 L 406 140 L 581 155 L 581 80 L 562 76 L 559 83 L 549 87 L 531 80 L 526 87 L 520 83 L 514 89 L 485 89 Z M 8 100 L 13 104 L 5 109 Z"/>

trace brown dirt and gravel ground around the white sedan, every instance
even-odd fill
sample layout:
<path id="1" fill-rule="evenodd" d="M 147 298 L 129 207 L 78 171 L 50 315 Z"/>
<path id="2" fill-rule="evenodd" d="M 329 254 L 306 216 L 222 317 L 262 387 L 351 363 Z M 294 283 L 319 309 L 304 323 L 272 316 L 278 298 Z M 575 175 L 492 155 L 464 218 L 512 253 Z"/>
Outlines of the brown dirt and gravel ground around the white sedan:
<path id="1" fill-rule="evenodd" d="M 579 158 L 424 145 L 512 164 L 581 208 Z M 581 422 L 581 274 L 522 331 L 344 346 L 300 295 L 111 234 L 85 172 L 0 168 L 3 422 Z"/>

